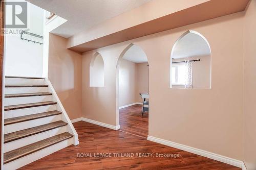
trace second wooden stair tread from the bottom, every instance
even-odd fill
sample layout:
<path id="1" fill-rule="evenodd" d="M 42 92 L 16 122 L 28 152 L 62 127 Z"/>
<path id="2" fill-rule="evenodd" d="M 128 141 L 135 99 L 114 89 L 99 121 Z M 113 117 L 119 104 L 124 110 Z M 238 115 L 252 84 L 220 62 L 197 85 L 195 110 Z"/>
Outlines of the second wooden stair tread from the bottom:
<path id="1" fill-rule="evenodd" d="M 62 126 L 66 126 L 68 125 L 68 123 L 63 122 L 62 120 L 59 120 L 57 122 L 53 122 L 50 124 L 45 124 L 45 125 L 40 125 L 40 126 L 36 126 L 33 128 L 28 128 L 28 129 L 24 129 L 24 130 L 20 130 L 20 131 L 16 131 L 16 132 L 12 132 L 12 133 L 8 133 L 4 135 L 4 143 L 13 141 L 13 140 L 17 140 L 17 139 L 21 139 L 24 137 L 28 137 L 31 135 L 35 135 L 41 132 L 45 132 L 45 131 L 49 131 L 55 128 L 59 128 Z"/>

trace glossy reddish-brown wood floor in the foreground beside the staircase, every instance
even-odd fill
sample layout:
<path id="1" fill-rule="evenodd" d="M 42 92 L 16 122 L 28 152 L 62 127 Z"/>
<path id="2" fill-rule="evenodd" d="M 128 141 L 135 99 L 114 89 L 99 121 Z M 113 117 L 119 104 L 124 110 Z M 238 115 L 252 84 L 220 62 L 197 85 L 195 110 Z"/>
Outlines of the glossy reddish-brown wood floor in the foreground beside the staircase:
<path id="1" fill-rule="evenodd" d="M 78 133 L 79 145 L 71 145 L 20 169 L 241 169 L 90 123 L 77 122 L 74 127 Z M 87 153 L 91 155 L 86 155 Z M 112 155 L 94 155 L 97 153 Z M 127 156 L 129 153 L 131 157 Z M 139 157 L 136 153 L 152 156 Z M 164 153 L 173 156 L 157 157 L 157 154 Z"/>

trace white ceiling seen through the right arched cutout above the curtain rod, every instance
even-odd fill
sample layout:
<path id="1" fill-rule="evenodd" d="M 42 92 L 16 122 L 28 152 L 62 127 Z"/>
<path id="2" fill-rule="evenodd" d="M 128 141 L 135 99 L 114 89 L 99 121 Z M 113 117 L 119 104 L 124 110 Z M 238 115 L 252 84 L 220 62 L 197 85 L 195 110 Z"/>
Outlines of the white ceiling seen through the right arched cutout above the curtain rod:
<path id="1" fill-rule="evenodd" d="M 179 39 L 173 50 L 172 58 L 175 59 L 210 55 L 207 42 L 194 33 L 188 33 Z"/>

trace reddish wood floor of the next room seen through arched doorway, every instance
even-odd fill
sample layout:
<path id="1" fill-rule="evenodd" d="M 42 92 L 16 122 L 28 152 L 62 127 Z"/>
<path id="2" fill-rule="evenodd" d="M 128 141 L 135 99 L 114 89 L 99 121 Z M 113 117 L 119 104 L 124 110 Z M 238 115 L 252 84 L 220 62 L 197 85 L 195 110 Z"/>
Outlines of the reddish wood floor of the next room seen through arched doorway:
<path id="1" fill-rule="evenodd" d="M 142 105 L 133 105 L 119 109 L 119 124 L 121 131 L 141 137 L 148 135 L 148 112 L 141 116 Z"/>

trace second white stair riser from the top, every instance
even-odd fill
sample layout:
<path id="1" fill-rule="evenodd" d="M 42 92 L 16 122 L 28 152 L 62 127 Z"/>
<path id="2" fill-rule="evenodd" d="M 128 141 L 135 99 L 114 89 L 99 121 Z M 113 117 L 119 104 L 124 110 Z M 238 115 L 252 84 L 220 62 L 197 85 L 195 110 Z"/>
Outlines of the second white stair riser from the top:
<path id="1" fill-rule="evenodd" d="M 48 87 L 6 87 L 5 94 L 48 92 Z"/>

